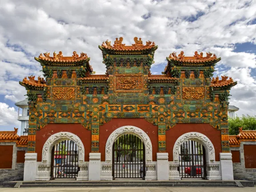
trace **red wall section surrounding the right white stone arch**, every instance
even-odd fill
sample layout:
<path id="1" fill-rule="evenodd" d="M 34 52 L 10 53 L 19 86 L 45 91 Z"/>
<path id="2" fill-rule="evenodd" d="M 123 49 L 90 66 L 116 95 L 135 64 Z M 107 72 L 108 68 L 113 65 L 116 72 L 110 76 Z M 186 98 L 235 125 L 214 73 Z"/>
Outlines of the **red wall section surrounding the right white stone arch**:
<path id="1" fill-rule="evenodd" d="M 209 124 L 176 124 L 173 128 L 166 131 L 166 152 L 169 153 L 169 161 L 173 160 L 173 146 L 176 140 L 188 132 L 200 132 L 207 136 L 214 146 L 215 160 L 220 160 L 220 152 L 222 152 L 220 130 L 213 128 Z"/>

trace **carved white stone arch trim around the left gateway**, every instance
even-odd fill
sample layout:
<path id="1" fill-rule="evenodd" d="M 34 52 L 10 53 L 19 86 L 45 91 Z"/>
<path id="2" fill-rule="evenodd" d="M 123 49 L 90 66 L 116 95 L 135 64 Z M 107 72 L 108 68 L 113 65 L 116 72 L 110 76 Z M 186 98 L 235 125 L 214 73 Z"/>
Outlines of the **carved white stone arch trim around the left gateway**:
<path id="1" fill-rule="evenodd" d="M 78 147 L 78 163 L 84 162 L 84 144 L 78 136 L 71 132 L 58 132 L 53 134 L 45 142 L 42 152 L 42 162 L 49 163 L 51 162 L 51 153 L 52 148 L 56 143 L 59 143 L 62 140 L 72 140 Z"/>

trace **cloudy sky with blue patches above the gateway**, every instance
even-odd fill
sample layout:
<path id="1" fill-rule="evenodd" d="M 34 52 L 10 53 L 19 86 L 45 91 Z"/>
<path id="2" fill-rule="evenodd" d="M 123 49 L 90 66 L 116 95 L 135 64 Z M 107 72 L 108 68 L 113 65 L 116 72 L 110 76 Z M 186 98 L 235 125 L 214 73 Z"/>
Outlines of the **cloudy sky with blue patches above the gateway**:
<path id="1" fill-rule="evenodd" d="M 230 104 L 256 115 L 256 0 L 0 0 L 0 130 L 20 128 L 19 81 L 40 75 L 41 52 L 85 52 L 96 74 L 105 72 L 98 45 L 105 40 L 155 41 L 153 74 L 166 56 L 184 51 L 221 57 L 216 75 L 232 76 Z"/>

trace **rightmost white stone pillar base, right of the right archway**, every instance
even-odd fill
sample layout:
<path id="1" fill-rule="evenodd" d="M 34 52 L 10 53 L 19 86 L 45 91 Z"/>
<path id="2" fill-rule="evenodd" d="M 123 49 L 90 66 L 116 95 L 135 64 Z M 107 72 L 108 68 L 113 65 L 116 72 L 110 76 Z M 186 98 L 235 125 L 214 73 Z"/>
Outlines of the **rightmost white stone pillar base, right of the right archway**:
<path id="1" fill-rule="evenodd" d="M 234 180 L 232 153 L 220 153 L 220 169 L 222 180 Z"/>

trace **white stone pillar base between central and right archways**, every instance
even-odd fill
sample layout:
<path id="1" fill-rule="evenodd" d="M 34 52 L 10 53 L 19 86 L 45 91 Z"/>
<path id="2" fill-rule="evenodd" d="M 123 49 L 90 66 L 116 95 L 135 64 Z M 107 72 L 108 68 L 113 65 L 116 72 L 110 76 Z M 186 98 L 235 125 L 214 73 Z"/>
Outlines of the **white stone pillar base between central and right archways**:
<path id="1" fill-rule="evenodd" d="M 168 153 L 156 153 L 157 180 L 169 180 Z"/>

